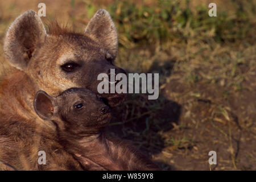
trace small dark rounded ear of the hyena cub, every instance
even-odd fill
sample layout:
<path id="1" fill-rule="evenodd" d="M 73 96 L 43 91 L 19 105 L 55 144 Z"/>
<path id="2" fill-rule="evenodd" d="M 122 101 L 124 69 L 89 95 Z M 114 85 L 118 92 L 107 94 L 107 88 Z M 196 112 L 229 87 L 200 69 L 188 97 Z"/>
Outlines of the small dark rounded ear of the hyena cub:
<path id="1" fill-rule="evenodd" d="M 39 90 L 34 98 L 34 109 L 42 119 L 51 119 L 54 111 L 53 102 L 55 97 L 49 96 L 46 92 Z"/>

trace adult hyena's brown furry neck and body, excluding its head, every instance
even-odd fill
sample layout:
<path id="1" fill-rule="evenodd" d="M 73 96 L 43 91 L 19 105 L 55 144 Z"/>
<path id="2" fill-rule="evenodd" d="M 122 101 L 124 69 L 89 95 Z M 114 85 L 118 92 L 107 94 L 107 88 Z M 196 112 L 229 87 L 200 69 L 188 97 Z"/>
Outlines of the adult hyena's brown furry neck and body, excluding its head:
<path id="1" fill-rule="evenodd" d="M 1 86 L 3 89 L 0 94 L 5 93 L 6 96 L 1 97 L 0 100 L 1 159 L 18 170 L 81 169 L 79 163 L 73 160 L 73 157 L 65 152 L 55 139 L 55 127 L 51 123 L 37 119 L 24 101 L 25 96 L 32 97 L 31 80 L 22 73 L 16 72 L 7 77 Z M 20 95 L 20 92 L 24 95 Z M 40 150 L 46 151 L 48 163 L 46 166 L 38 165 L 37 154 Z"/>

